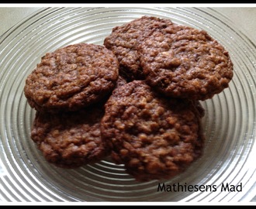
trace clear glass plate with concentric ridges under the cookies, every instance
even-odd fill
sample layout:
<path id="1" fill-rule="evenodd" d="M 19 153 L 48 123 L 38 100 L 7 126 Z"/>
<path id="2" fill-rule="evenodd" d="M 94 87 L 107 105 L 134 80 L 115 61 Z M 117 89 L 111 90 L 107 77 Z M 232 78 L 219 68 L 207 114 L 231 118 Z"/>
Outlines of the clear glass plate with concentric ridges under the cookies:
<path id="1" fill-rule="evenodd" d="M 29 137 L 35 111 L 23 94 L 26 77 L 45 53 L 72 43 L 102 44 L 114 26 L 142 15 L 205 29 L 225 46 L 234 62 L 230 87 L 201 102 L 206 109 L 203 156 L 171 180 L 147 183 L 135 181 L 123 165 L 109 158 L 75 170 L 50 165 Z M 0 38 L 0 57 L 1 202 L 234 202 L 255 196 L 256 47 L 234 22 L 214 9 L 40 9 Z M 163 183 L 176 189 L 157 191 Z M 223 190 L 227 183 L 230 191 Z"/>

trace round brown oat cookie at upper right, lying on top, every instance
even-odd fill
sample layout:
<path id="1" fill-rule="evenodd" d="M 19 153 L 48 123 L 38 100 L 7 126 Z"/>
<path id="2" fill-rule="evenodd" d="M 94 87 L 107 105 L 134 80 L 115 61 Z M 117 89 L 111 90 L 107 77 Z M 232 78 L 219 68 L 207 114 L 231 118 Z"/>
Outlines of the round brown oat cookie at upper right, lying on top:
<path id="1" fill-rule="evenodd" d="M 147 84 L 162 94 L 212 98 L 233 77 L 229 53 L 205 31 L 173 24 L 155 30 L 137 47 Z"/>

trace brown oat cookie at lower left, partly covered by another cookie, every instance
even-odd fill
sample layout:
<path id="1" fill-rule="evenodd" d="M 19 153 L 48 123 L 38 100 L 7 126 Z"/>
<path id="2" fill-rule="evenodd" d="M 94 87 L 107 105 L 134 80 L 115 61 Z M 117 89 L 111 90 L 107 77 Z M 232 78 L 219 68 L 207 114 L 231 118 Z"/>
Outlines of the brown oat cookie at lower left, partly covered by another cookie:
<path id="1" fill-rule="evenodd" d="M 71 169 L 96 163 L 109 154 L 100 132 L 103 115 L 103 107 L 55 114 L 36 111 L 31 139 L 55 166 Z"/>

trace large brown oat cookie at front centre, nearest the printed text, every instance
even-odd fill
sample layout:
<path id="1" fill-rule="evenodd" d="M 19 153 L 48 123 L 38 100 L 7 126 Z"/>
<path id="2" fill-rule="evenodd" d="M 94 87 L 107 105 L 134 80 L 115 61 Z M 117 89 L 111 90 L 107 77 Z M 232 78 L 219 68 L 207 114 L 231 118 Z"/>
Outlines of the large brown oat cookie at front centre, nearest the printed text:
<path id="1" fill-rule="evenodd" d="M 162 98 L 144 81 L 116 88 L 105 105 L 102 140 L 139 181 L 167 179 L 202 154 L 198 101 Z"/>

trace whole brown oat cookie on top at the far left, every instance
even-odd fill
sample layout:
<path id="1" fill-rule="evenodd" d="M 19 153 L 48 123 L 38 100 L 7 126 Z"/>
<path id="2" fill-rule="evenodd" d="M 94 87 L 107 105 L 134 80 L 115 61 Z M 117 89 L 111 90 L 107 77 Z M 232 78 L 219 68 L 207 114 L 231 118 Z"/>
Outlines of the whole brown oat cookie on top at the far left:
<path id="1" fill-rule="evenodd" d="M 78 43 L 43 56 L 27 77 L 24 93 L 38 111 L 76 111 L 106 97 L 118 75 L 112 51 Z"/>

